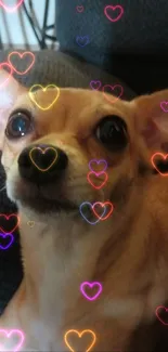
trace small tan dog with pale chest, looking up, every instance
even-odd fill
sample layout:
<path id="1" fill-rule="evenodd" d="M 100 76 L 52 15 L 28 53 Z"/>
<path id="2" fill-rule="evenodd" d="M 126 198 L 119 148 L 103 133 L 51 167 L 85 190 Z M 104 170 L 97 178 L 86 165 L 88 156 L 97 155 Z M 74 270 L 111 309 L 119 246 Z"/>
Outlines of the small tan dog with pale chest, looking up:
<path id="1" fill-rule="evenodd" d="M 139 351 L 134 330 L 152 324 L 168 298 L 168 181 L 150 161 L 161 149 L 159 104 L 168 91 L 111 103 L 98 91 L 61 89 L 46 110 L 35 101 L 50 105 L 54 89 L 30 99 L 11 78 L 0 94 L 2 165 L 18 207 L 24 265 L 0 328 L 25 334 L 22 351 Z M 47 171 L 44 157 L 41 170 L 30 157 L 37 146 L 56 148 Z M 91 159 L 108 165 L 101 190 L 87 180 Z M 107 220 L 89 224 L 80 214 L 82 203 L 106 200 L 114 206 Z M 86 281 L 102 284 L 99 299 L 83 298 Z M 92 333 L 81 336 L 88 329 L 95 341 Z M 5 350 L 14 343 L 15 337 L 1 341 Z M 147 341 L 141 351 L 150 351 Z"/>

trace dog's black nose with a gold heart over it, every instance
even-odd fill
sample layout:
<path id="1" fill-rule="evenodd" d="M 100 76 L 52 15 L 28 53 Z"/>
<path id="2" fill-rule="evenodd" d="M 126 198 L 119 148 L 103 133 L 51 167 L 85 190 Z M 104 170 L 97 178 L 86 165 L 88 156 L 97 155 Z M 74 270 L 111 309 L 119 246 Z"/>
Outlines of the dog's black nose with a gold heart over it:
<path id="1" fill-rule="evenodd" d="M 18 157 L 18 171 L 30 182 L 46 183 L 63 175 L 67 167 L 66 154 L 48 144 L 36 144 L 25 148 Z"/>

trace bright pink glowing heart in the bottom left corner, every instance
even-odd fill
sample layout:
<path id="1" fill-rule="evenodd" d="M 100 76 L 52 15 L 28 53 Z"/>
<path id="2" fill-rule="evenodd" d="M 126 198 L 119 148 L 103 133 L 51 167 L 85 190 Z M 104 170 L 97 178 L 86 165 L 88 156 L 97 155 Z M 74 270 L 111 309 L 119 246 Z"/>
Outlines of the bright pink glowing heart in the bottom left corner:
<path id="1" fill-rule="evenodd" d="M 12 336 L 13 336 L 13 341 L 12 341 Z M 18 339 L 18 342 L 14 341 L 16 337 Z M 3 339 L 3 344 L 1 343 L 2 339 Z M 17 352 L 22 348 L 24 340 L 25 340 L 25 336 L 22 330 L 0 329 L 0 351 Z M 12 346 L 12 348 L 11 348 L 11 346 Z"/>

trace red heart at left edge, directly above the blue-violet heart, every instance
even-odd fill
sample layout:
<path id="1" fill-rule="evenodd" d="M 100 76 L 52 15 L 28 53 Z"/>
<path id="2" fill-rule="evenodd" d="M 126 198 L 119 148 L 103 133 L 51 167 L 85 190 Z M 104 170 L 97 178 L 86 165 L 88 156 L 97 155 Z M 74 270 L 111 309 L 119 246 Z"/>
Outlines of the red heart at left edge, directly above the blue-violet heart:
<path id="1" fill-rule="evenodd" d="M 2 231 L 4 234 L 11 234 L 14 232 L 20 224 L 20 219 L 17 214 L 5 216 L 0 213 L 0 232 Z"/>

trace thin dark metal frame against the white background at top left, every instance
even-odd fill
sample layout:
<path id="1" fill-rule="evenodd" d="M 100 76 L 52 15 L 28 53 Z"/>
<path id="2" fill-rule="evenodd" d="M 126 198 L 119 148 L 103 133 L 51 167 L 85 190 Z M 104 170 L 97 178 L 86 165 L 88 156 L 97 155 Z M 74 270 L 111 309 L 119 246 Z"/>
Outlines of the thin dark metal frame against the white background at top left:
<path id="1" fill-rule="evenodd" d="M 35 11 L 34 11 L 33 0 L 28 0 L 29 10 L 27 9 L 27 5 L 25 5 L 25 1 L 23 1 L 23 4 L 21 6 L 21 11 L 23 11 L 25 13 L 25 15 L 31 26 L 34 35 L 38 41 L 39 49 L 41 49 L 41 50 L 48 49 L 48 44 L 46 42 L 47 39 L 50 39 L 52 44 L 57 41 L 56 36 L 48 35 L 48 30 L 55 29 L 55 23 L 52 25 L 48 25 L 48 23 L 49 23 L 49 5 L 50 5 L 50 0 L 46 0 L 42 28 L 40 28 L 40 26 L 38 25 L 38 21 L 37 21 Z M 56 1 L 55 1 L 55 13 L 56 13 Z M 55 17 L 56 17 L 56 14 L 55 14 Z M 3 50 L 3 42 L 2 42 L 1 35 L 0 35 L 0 50 Z"/>

